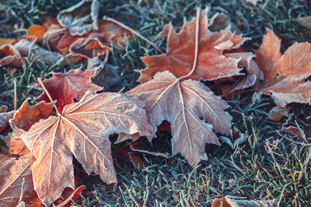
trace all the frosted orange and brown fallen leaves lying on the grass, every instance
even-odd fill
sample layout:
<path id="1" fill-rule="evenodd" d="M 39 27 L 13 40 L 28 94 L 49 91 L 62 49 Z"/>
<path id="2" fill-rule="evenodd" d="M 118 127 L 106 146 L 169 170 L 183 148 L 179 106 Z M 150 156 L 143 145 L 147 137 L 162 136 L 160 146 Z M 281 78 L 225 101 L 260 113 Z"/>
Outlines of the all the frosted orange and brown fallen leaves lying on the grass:
<path id="1" fill-rule="evenodd" d="M 0 206 L 17 206 L 21 200 L 28 206 L 68 204 L 84 189 L 75 184 L 73 156 L 88 174 L 116 183 L 109 140 L 113 134 L 119 135 L 117 142 L 140 137 L 152 141 L 165 123 L 172 155 L 180 153 L 194 167 L 207 160 L 207 144 L 223 141 L 235 148 L 245 136 L 232 126 L 227 102 L 201 81 L 234 81 L 225 94 L 252 87 L 257 90 L 254 101 L 262 94 L 272 96 L 274 111 L 292 102 L 310 104 L 310 43 L 294 43 L 282 55 L 281 41 L 267 30 L 261 48 L 245 52 L 241 45 L 249 39 L 232 32 L 223 14 L 208 19 L 207 10 L 185 21 L 180 32 L 171 24 L 164 27 L 160 35 L 167 35 L 167 53 L 141 58 L 147 65 L 140 70 L 142 84 L 125 94 L 104 92 L 120 83 L 120 75 L 103 55 L 107 60 L 111 42 L 122 44 L 124 36 L 133 34 L 98 19 L 98 13 L 97 0 L 83 0 L 59 12 L 57 19 L 28 28 L 27 37 L 1 46 L 0 65 L 8 68 L 23 70 L 31 61 L 64 63 L 63 56 L 87 67 L 53 73 L 30 86 L 44 89 L 31 105 L 26 99 L 16 111 L 0 108 L 0 132 L 8 148 L 0 154 Z M 292 124 L 283 128 L 299 136 Z M 144 161 L 135 153 L 148 151 L 137 142 L 127 150 L 124 157 L 142 170 Z"/>

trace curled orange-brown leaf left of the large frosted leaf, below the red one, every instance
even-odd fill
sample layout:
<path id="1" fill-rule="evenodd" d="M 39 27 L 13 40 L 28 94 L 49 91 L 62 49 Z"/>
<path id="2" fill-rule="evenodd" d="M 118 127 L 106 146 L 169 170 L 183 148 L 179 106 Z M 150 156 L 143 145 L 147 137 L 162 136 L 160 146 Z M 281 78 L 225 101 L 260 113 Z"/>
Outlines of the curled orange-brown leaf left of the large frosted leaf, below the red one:
<path id="1" fill-rule="evenodd" d="M 10 139 L 6 139 L 6 144 L 10 148 L 10 153 L 12 155 L 28 155 L 29 150 L 27 146 L 21 140 L 21 135 L 24 132 L 27 132 L 30 127 L 40 121 L 40 119 L 48 119 L 53 112 L 53 105 L 55 101 L 52 103 L 44 103 L 41 101 L 40 103 L 35 104 L 35 106 L 29 106 L 28 100 L 23 102 L 19 110 L 15 112 L 14 117 L 10 119 L 11 128 L 14 130 Z"/>

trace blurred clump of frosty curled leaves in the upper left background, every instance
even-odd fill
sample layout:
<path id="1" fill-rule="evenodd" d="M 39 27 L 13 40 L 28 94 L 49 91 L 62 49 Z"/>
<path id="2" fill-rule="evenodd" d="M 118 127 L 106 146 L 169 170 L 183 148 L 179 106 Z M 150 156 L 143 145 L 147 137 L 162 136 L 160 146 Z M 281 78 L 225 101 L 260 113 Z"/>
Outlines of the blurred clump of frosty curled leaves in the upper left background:
<path id="1" fill-rule="evenodd" d="M 84 0 L 59 12 L 57 19 L 48 18 L 42 26 L 28 28 L 27 37 L 0 45 L 0 66 L 22 68 L 34 59 L 49 66 L 64 65 L 66 59 L 87 63 L 108 52 L 111 42 L 122 44 L 125 36 L 133 37 L 129 30 L 98 19 L 98 9 L 97 0 Z"/>

